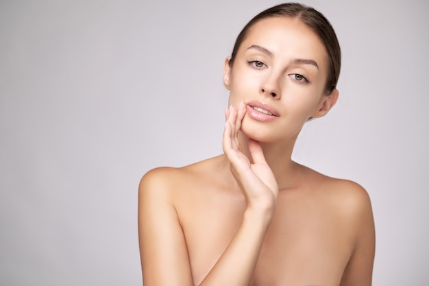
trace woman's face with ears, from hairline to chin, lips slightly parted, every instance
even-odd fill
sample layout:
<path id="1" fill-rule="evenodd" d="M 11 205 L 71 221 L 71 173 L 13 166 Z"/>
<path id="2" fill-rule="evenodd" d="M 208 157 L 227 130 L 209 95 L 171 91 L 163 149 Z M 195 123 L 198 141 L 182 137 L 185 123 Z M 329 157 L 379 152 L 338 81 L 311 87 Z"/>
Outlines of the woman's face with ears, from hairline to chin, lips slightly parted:
<path id="1" fill-rule="evenodd" d="M 247 32 L 232 67 L 228 62 L 223 82 L 229 104 L 246 104 L 241 131 L 260 142 L 295 137 L 309 118 L 326 115 L 338 97 L 336 90 L 325 94 L 325 47 L 295 18 L 259 21 Z"/>

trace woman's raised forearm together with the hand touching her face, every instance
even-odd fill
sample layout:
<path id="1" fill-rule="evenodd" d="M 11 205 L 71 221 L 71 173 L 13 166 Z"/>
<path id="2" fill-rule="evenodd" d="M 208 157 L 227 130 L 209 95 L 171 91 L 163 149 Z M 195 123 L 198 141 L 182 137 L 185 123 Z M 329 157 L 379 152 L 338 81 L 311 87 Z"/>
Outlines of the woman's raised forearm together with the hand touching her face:
<path id="1" fill-rule="evenodd" d="M 225 110 L 227 121 L 223 132 L 223 151 L 230 160 L 232 174 L 245 195 L 247 208 L 236 235 L 221 255 L 201 286 L 249 285 L 267 228 L 278 198 L 278 185 L 267 165 L 262 147 L 249 139 L 249 158 L 241 152 L 238 131 L 245 115 L 243 103 L 237 110 Z"/>

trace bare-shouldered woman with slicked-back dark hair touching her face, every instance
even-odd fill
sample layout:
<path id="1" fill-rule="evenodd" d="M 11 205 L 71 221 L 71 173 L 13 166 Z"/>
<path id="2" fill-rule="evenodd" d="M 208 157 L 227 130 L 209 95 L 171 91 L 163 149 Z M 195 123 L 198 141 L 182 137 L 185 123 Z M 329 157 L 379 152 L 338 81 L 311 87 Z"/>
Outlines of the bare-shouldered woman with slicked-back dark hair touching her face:
<path id="1" fill-rule="evenodd" d="M 224 154 L 140 182 L 145 286 L 371 285 L 367 192 L 291 160 L 304 123 L 336 103 L 340 58 L 330 23 L 304 5 L 245 26 L 224 64 Z"/>

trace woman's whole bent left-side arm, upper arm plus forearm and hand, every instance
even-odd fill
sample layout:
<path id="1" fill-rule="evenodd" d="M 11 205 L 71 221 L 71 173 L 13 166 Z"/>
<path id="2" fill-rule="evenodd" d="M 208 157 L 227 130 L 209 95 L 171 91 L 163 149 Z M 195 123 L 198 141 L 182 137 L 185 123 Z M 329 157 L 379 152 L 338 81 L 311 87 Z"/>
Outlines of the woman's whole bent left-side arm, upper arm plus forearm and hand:
<path id="1" fill-rule="evenodd" d="M 249 285 L 277 202 L 277 183 L 260 145 L 255 141 L 249 143 L 252 164 L 241 152 L 238 130 L 244 115 L 243 105 L 238 112 L 230 108 L 223 149 L 245 195 L 247 209 L 232 241 L 200 286 Z M 149 172 L 140 182 L 138 224 L 143 283 L 145 286 L 193 285 L 186 241 L 169 187 L 157 172 Z"/>

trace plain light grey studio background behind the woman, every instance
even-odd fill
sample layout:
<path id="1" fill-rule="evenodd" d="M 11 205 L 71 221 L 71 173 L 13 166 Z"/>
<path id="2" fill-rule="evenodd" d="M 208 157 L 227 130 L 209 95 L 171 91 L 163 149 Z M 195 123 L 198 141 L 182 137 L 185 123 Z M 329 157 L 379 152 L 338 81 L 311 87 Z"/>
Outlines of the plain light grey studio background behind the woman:
<path id="1" fill-rule="evenodd" d="M 0 284 L 140 285 L 137 187 L 221 153 L 222 65 L 278 1 L 0 1 Z M 374 285 L 429 285 L 429 1 L 308 0 L 340 100 L 294 158 L 371 195 Z"/>

